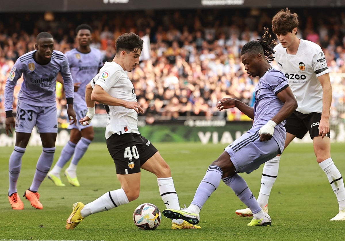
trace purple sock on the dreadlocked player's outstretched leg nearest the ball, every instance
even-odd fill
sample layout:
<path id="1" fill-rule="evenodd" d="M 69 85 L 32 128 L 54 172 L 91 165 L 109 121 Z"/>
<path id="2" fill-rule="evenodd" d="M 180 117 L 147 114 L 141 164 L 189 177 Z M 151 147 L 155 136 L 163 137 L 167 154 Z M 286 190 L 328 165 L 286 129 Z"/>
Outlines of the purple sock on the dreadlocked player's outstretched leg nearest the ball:
<path id="1" fill-rule="evenodd" d="M 206 200 L 211 196 L 211 193 L 218 188 L 221 176 L 223 176 L 221 168 L 216 165 L 210 165 L 190 204 L 197 205 L 201 210 Z"/>

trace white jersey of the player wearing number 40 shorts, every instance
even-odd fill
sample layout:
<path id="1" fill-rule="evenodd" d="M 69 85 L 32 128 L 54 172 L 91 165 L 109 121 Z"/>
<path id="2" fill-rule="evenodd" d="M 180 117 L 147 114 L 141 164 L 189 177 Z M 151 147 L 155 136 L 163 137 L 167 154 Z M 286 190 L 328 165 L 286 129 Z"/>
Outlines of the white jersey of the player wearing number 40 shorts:
<path id="1" fill-rule="evenodd" d="M 99 85 L 109 95 L 125 101 L 137 101 L 134 86 L 127 71 L 115 62 L 106 62 L 99 73 L 90 82 L 92 88 Z M 106 126 L 106 139 L 112 134 L 137 133 L 138 113 L 134 109 L 123 106 L 106 106 L 108 123 Z"/>

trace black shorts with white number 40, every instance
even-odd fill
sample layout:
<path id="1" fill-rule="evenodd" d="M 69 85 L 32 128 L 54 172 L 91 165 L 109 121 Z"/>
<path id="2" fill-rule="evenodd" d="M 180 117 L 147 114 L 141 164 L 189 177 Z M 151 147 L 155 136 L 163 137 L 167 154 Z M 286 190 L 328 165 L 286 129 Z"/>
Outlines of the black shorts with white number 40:
<path id="1" fill-rule="evenodd" d="M 107 139 L 107 148 L 114 160 L 117 174 L 140 172 L 140 167 L 158 151 L 140 134 L 113 134 Z"/>

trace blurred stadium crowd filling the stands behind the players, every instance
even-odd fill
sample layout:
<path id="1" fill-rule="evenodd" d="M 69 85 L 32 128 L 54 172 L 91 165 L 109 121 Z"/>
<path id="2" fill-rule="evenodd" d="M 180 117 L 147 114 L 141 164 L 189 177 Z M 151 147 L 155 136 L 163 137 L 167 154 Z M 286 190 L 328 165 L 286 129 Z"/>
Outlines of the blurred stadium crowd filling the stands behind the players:
<path id="1" fill-rule="evenodd" d="M 138 103 L 148 124 L 155 120 L 227 118 L 248 120 L 236 108 L 219 112 L 218 99 L 234 97 L 251 105 L 258 81 L 244 71 L 240 50 L 271 27 L 279 9 L 156 10 L 101 13 L 2 14 L 0 21 L 0 123 L 4 123 L 4 86 L 22 54 L 34 50 L 36 35 L 50 32 L 55 49 L 75 47 L 75 28 L 87 23 L 93 28 L 92 47 L 115 56 L 115 40 L 124 32 L 144 39 L 140 64 L 129 73 Z M 331 69 L 333 104 L 331 124 L 345 120 L 345 13 L 335 9 L 299 9 L 298 36 L 322 46 Z M 274 36 L 273 36 L 274 37 Z M 275 66 L 275 63 L 272 63 Z M 21 81 L 14 91 L 18 95 Z M 59 122 L 67 123 L 63 86 L 57 83 Z M 16 101 L 14 101 L 14 109 Z M 105 113 L 102 105 L 96 114 Z M 68 124 L 67 124 L 68 125 Z M 63 126 L 63 125 L 62 125 Z"/>

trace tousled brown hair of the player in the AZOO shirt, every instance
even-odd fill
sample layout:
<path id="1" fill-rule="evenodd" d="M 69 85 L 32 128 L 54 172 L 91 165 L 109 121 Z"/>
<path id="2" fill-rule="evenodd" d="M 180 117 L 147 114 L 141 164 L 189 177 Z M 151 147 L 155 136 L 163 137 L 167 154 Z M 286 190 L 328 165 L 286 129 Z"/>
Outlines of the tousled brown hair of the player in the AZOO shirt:
<path id="1" fill-rule="evenodd" d="M 272 31 L 274 34 L 292 33 L 294 28 L 297 28 L 298 31 L 297 13 L 291 13 L 291 11 L 286 8 L 285 10 L 280 10 L 276 15 L 274 15 L 272 19 Z"/>

